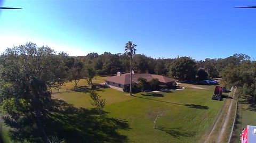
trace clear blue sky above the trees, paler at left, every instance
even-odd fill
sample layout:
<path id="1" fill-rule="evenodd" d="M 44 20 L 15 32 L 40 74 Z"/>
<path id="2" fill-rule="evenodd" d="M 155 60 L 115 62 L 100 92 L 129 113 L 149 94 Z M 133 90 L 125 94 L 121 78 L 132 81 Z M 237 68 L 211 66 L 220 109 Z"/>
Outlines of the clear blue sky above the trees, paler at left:
<path id="1" fill-rule="evenodd" d="M 2 0 L 0 0 L 2 1 Z M 1 4 L 1 3 L 0 3 Z M 196 60 L 244 53 L 256 58 L 255 1 L 3 1 L 0 52 L 32 41 L 69 55 L 123 53 Z"/>

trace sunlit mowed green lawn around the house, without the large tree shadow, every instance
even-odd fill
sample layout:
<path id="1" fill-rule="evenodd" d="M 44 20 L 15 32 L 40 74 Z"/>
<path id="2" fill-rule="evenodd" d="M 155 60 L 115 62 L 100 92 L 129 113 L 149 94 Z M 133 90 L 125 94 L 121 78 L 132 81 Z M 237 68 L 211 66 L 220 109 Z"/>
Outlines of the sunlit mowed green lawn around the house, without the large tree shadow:
<path id="1" fill-rule="evenodd" d="M 203 87 L 159 94 L 142 92 L 134 96 L 110 88 L 97 92 L 106 98 L 104 110 L 110 117 L 129 123 L 129 130 L 119 131 L 129 142 L 197 142 L 210 129 L 223 104 L 223 101 L 211 100 L 214 86 Z M 88 93 L 63 92 L 54 97 L 77 107 L 92 107 Z M 153 129 L 155 111 L 164 111 L 164 114 Z"/>

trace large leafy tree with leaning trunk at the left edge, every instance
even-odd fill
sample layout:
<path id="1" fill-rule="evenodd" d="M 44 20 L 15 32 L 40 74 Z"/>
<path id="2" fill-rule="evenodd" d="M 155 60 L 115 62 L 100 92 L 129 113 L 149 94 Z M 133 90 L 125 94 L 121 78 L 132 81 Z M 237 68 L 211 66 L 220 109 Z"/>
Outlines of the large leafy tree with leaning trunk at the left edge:
<path id="1" fill-rule="evenodd" d="M 66 56 L 56 55 L 50 47 L 27 43 L 6 49 L 0 57 L 0 95 L 4 110 L 17 124 L 23 118 L 34 117 L 44 142 L 50 142 L 41 123 L 51 100 L 48 88 L 65 82 Z"/>

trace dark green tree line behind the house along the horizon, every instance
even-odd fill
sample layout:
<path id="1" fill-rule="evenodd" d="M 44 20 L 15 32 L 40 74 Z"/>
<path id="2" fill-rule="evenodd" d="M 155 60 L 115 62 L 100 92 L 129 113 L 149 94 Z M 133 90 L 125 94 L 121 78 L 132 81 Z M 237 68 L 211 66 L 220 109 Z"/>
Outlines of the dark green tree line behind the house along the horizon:
<path id="1" fill-rule="evenodd" d="M 130 57 L 124 53 L 103 54 L 90 53 L 86 56 L 71 57 L 84 66 L 90 67 L 98 75 L 114 75 L 118 71 L 130 72 Z M 135 73 L 150 73 L 177 78 L 180 81 L 220 78 L 228 65 L 236 65 L 250 60 L 245 54 L 234 54 L 227 58 L 206 58 L 196 61 L 191 57 L 152 58 L 143 54 L 135 54 L 132 58 L 132 70 Z M 197 77 L 197 78 L 196 78 Z"/>

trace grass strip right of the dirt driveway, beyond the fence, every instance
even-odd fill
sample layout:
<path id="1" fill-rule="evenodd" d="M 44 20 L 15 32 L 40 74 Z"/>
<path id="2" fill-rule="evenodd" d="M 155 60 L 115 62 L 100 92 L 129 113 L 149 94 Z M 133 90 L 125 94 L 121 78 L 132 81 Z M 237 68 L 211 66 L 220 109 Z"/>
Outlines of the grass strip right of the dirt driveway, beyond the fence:
<path id="1" fill-rule="evenodd" d="M 256 125 L 256 106 L 248 102 L 249 97 L 240 97 L 237 107 L 235 130 L 231 142 L 239 142 L 239 134 L 246 125 Z"/>

